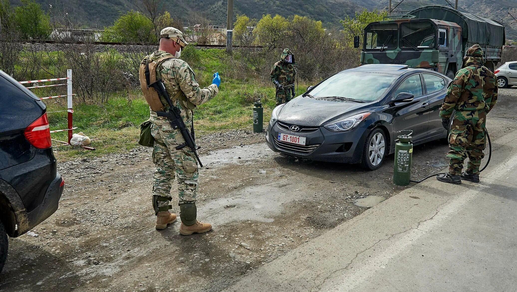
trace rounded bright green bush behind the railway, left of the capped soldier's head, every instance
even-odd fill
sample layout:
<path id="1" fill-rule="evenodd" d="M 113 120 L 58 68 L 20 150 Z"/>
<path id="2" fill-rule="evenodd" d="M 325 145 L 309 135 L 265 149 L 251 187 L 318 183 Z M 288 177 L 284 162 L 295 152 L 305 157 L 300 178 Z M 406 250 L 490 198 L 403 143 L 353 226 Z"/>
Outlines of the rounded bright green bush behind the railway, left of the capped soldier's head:
<path id="1" fill-rule="evenodd" d="M 138 11 L 120 15 L 110 27 L 104 28 L 102 41 L 127 43 L 156 43 L 157 36 L 153 22 Z"/>

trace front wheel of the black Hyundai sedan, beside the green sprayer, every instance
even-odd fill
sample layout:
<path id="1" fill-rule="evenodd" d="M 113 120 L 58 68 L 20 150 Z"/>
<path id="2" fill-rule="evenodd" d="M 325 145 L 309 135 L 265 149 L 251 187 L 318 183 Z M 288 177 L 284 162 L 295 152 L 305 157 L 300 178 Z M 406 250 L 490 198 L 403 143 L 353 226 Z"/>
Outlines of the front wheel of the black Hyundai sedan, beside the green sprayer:
<path id="1" fill-rule="evenodd" d="M 381 144 L 382 142 L 382 144 Z M 376 170 L 383 165 L 388 151 L 386 134 L 381 128 L 376 128 L 366 138 L 362 151 L 361 167 L 366 170 Z M 373 158 L 372 158 L 372 155 Z M 372 162 L 373 160 L 373 162 Z"/>

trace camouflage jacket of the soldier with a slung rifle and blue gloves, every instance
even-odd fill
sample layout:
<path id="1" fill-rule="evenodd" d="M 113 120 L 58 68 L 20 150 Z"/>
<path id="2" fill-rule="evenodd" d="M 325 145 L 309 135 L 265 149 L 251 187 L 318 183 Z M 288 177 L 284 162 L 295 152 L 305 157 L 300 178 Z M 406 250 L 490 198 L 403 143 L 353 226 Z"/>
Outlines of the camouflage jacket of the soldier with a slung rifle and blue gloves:
<path id="1" fill-rule="evenodd" d="M 163 56 L 171 54 L 164 51 L 156 51 L 149 55 L 152 60 L 158 60 Z M 174 57 L 174 56 L 173 56 Z M 181 100 L 189 100 L 194 105 L 202 105 L 211 100 L 219 92 L 217 85 L 212 84 L 206 88 L 200 88 L 195 80 L 194 71 L 189 64 L 184 60 L 178 58 L 166 59 L 162 61 L 156 69 L 156 78 L 161 78 L 165 89 L 169 93 L 171 100 L 174 98 L 178 90 L 181 90 L 181 97 L 173 101 L 174 106 L 181 110 L 181 117 L 186 125 L 191 122 L 192 112 L 188 110 L 187 106 Z M 168 103 L 160 96 L 160 100 L 166 108 L 169 108 Z M 150 111 L 150 121 L 156 125 L 170 127 L 169 120 L 163 117 L 158 117 L 156 112 Z M 172 128 L 171 128 L 172 129 Z"/>

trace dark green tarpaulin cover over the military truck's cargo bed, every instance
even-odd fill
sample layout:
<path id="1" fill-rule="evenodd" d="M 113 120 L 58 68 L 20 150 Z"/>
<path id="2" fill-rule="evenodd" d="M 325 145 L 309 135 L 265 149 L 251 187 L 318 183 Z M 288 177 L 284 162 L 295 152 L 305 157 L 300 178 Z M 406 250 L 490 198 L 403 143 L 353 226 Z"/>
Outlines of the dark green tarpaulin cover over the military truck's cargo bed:
<path id="1" fill-rule="evenodd" d="M 463 28 L 462 38 L 466 47 L 475 43 L 501 47 L 505 43 L 505 27 L 492 19 L 439 5 L 423 6 L 407 14 L 420 19 L 429 18 L 459 24 Z"/>

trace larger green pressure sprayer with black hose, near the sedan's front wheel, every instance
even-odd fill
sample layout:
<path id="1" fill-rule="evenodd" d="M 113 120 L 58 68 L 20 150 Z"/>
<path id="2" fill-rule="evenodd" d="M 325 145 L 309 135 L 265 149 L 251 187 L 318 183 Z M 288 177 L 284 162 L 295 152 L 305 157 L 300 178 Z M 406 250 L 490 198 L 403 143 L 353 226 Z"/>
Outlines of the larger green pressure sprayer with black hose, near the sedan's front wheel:
<path id="1" fill-rule="evenodd" d="M 413 143 L 411 143 L 411 135 L 413 131 L 404 130 L 398 131 L 397 133 L 402 132 L 410 132 L 408 135 L 400 135 L 396 140 L 395 144 L 395 165 L 393 167 L 393 183 L 398 186 L 407 186 L 409 183 L 421 183 L 430 177 L 437 176 L 440 174 L 444 174 L 445 172 L 433 173 L 431 175 L 425 176 L 421 180 L 412 180 L 411 179 L 411 162 L 413 159 Z M 486 128 L 484 130 L 486 139 L 488 140 L 489 146 L 489 155 L 488 160 L 486 161 L 486 165 L 480 169 L 479 171 L 483 171 L 490 163 L 490 158 L 492 158 L 492 141 L 490 141 L 490 136 L 488 135 L 488 131 Z"/>

